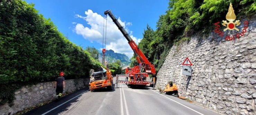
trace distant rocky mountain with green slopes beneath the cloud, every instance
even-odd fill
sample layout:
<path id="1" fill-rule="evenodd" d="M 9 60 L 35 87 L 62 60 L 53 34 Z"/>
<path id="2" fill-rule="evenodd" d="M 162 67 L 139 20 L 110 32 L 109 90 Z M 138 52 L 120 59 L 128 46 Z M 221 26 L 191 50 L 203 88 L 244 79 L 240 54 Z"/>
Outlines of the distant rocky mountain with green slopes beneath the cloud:
<path id="1" fill-rule="evenodd" d="M 99 60 L 102 62 L 102 51 L 99 51 L 99 52 L 100 52 Z M 109 63 L 115 62 L 117 59 L 119 59 L 122 63 L 121 66 L 128 66 L 128 65 L 130 65 L 130 62 L 131 62 L 129 57 L 126 56 L 125 54 L 115 53 L 115 51 L 113 51 L 111 49 L 106 50 L 105 59 Z"/>

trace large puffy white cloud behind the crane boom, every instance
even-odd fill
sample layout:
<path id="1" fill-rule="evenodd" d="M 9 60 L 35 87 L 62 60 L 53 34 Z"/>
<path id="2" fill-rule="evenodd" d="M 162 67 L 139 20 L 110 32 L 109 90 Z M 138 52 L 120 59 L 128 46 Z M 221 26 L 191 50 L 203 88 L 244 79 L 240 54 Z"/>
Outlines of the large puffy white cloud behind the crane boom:
<path id="1" fill-rule="evenodd" d="M 81 15 L 75 15 L 75 18 L 81 18 L 87 22 L 87 24 L 90 27 L 84 27 L 81 23 L 77 23 L 74 32 L 76 32 L 78 35 L 82 35 L 83 38 L 90 40 L 91 42 L 96 41 L 100 44 L 102 44 L 102 38 L 105 37 L 103 35 L 103 23 L 106 25 L 106 20 L 103 22 L 103 17 L 99 15 L 96 12 L 93 12 L 92 10 L 85 11 L 85 17 Z M 138 44 L 138 42 L 141 39 L 137 39 L 136 37 L 132 36 L 132 31 L 129 31 L 129 29 L 126 27 L 131 26 L 131 22 L 123 22 L 121 21 L 120 17 L 118 18 L 119 23 L 126 29 L 126 31 L 130 34 L 131 38 Z M 105 27 L 106 28 L 106 27 Z M 112 21 L 112 19 L 107 16 L 107 42 L 106 42 L 106 48 L 107 50 L 112 49 L 115 52 L 118 53 L 124 53 L 129 58 L 132 57 L 133 51 L 130 48 L 128 41 L 125 39 L 125 37 L 122 35 L 118 27 L 115 25 L 115 23 Z"/>

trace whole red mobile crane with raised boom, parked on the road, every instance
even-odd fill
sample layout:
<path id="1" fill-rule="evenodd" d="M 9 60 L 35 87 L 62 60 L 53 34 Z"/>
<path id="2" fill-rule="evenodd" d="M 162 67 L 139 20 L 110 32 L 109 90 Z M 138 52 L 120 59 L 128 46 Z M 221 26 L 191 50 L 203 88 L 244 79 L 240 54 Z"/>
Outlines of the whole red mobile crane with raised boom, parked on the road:
<path id="1" fill-rule="evenodd" d="M 147 82 L 146 77 L 148 77 L 148 74 L 153 74 L 153 75 L 156 74 L 155 66 L 148 61 L 148 59 L 143 54 L 143 52 L 139 49 L 139 47 L 136 45 L 136 43 L 132 40 L 132 38 L 126 32 L 124 27 L 121 26 L 121 24 L 118 22 L 117 18 L 112 14 L 111 10 L 106 10 L 104 12 L 104 14 L 109 15 L 110 18 L 113 20 L 113 22 L 118 27 L 118 29 L 122 32 L 124 37 L 127 39 L 128 44 L 130 45 L 131 49 L 134 51 L 136 59 L 139 63 L 138 66 L 134 66 L 133 68 L 128 67 L 126 69 L 125 75 L 119 75 L 119 76 L 127 76 L 127 77 L 129 77 L 129 80 L 120 81 L 117 79 L 117 83 L 118 82 L 119 83 L 128 83 L 131 85 L 154 84 L 154 82 Z M 118 75 L 117 75 L 117 77 L 118 77 Z"/>

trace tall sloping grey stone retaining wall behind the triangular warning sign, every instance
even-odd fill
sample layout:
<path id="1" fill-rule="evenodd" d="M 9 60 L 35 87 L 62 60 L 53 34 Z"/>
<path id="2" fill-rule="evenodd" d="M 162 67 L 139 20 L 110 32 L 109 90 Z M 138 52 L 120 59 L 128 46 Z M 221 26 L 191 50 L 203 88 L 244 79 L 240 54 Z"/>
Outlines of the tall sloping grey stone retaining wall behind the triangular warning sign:
<path id="1" fill-rule="evenodd" d="M 182 96 L 202 106 L 228 115 L 255 115 L 255 27 L 254 16 L 245 36 L 236 41 L 226 41 L 225 36 L 212 32 L 208 37 L 195 35 L 189 42 L 173 46 L 157 73 L 156 88 L 163 89 L 173 81 Z M 239 29 L 241 33 L 243 27 Z M 182 75 L 186 57 L 193 64 L 191 77 Z"/>

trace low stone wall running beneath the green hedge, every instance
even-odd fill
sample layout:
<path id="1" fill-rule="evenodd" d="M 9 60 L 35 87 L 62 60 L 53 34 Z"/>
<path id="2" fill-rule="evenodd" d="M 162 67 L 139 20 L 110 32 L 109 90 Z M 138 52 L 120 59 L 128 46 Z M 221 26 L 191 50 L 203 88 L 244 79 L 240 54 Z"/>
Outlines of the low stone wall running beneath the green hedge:
<path id="1" fill-rule="evenodd" d="M 89 78 L 86 79 L 69 79 L 65 80 L 66 89 L 63 93 L 71 93 L 75 90 L 88 87 Z M 0 106 L 0 115 L 12 115 L 25 108 L 35 106 L 47 100 L 54 99 L 56 96 L 54 82 L 38 83 L 32 86 L 23 86 L 15 92 L 13 106 L 8 103 Z"/>

